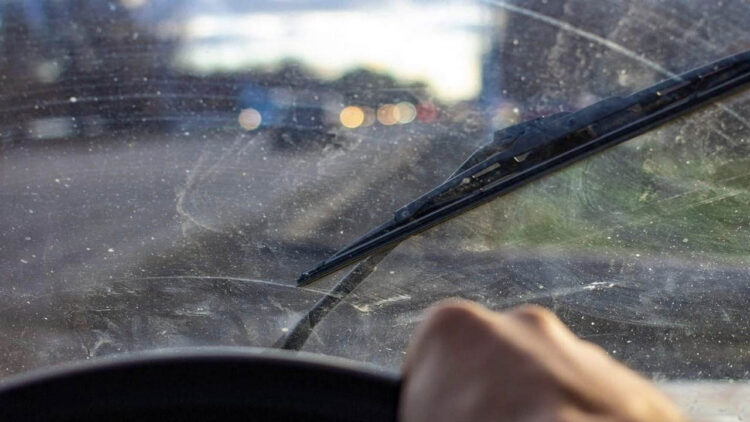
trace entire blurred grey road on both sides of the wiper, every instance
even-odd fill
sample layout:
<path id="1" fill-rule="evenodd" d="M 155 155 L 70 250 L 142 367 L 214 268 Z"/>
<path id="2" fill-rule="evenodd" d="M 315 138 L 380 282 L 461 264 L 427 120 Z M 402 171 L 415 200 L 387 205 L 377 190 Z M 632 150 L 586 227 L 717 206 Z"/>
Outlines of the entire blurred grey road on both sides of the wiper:
<path id="1" fill-rule="evenodd" d="M 337 135 L 290 147 L 271 133 L 120 132 L 5 148 L 0 375 L 133 350 L 270 346 L 339 276 L 297 289 L 299 272 L 479 141 L 428 126 Z M 745 269 L 473 250 L 475 217 L 397 248 L 306 349 L 397 367 L 420 312 L 463 296 L 552 307 L 653 375 L 747 376 Z"/>

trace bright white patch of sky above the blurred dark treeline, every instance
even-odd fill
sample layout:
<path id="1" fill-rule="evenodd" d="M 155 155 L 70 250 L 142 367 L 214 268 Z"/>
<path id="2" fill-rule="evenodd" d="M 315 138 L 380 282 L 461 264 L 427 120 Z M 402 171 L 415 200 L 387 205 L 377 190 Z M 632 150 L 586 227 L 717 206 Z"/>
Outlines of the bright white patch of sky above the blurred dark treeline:
<path id="1" fill-rule="evenodd" d="M 289 58 L 328 78 L 366 66 L 457 101 L 480 89 L 487 15 L 470 1 L 198 0 L 182 14 L 178 57 L 204 73 Z"/>

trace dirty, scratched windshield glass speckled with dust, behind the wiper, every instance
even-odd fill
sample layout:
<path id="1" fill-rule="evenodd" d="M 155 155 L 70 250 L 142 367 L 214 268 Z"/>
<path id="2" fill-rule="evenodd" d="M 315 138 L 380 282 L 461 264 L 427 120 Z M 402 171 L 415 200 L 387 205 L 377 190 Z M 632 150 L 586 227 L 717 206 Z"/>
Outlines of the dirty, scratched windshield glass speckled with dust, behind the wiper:
<path id="1" fill-rule="evenodd" d="M 278 345 L 346 274 L 297 288 L 301 272 L 495 130 L 747 49 L 748 13 L 681 0 L 4 2 L 0 374 Z M 412 237 L 335 293 L 301 347 L 398 368 L 421 312 L 458 296 L 547 306 L 683 403 L 746 381 L 749 140 L 739 93 Z M 746 382 L 731 388 L 725 403 L 747 397 Z M 722 411 L 747 417 L 739 406 Z"/>

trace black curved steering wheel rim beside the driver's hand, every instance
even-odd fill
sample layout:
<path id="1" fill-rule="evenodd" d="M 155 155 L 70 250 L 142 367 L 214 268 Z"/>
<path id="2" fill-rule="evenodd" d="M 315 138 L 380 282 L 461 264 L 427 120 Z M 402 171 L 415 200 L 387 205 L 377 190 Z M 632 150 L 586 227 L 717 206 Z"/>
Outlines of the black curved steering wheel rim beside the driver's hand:
<path id="1" fill-rule="evenodd" d="M 151 352 L 0 383 L 15 421 L 395 421 L 394 373 L 253 349 Z"/>

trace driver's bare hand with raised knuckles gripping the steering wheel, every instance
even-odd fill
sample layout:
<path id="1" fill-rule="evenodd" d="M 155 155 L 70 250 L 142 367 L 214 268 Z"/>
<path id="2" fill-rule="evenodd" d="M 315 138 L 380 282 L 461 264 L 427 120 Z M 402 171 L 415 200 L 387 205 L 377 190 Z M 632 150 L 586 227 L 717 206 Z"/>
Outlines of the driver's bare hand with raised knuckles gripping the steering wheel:
<path id="1" fill-rule="evenodd" d="M 650 382 L 532 305 L 435 306 L 403 375 L 401 422 L 686 421 Z"/>

